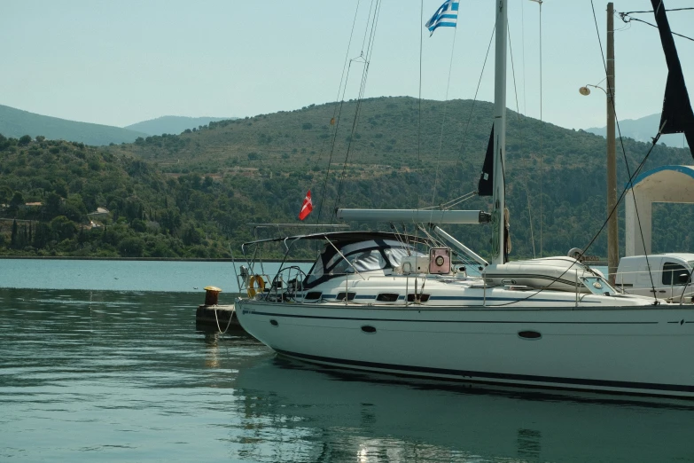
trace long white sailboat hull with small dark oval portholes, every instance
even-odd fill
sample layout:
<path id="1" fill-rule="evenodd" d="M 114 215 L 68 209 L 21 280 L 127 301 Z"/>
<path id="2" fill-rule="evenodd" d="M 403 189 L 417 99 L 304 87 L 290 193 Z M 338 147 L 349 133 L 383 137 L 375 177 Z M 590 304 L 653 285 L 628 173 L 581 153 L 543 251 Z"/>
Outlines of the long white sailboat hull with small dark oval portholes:
<path id="1" fill-rule="evenodd" d="M 694 396 L 694 309 L 355 308 L 241 300 L 238 320 L 279 354 L 454 381 Z"/>

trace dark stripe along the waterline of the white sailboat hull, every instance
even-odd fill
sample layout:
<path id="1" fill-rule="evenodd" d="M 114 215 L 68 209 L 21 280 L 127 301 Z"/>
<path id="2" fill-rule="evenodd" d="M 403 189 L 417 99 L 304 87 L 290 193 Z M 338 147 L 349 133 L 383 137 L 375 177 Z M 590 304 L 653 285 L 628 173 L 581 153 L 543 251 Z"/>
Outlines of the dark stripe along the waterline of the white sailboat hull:
<path id="1" fill-rule="evenodd" d="M 274 348 L 273 348 L 274 349 Z M 302 358 L 315 362 L 324 362 L 337 365 L 347 365 L 352 367 L 373 368 L 380 370 L 391 370 L 399 373 L 425 373 L 428 375 L 447 375 L 457 376 L 460 380 L 470 381 L 473 378 L 485 380 L 506 380 L 506 381 L 529 381 L 535 383 L 554 383 L 564 385 L 577 386 L 597 386 L 603 388 L 622 388 L 622 389 L 643 389 L 652 391 L 672 391 L 672 392 L 694 392 L 694 386 L 682 384 L 659 384 L 651 382 L 632 382 L 632 381 L 610 381 L 610 380 L 588 380 L 583 378 L 560 378 L 553 376 L 535 376 L 531 374 L 514 374 L 514 373 L 489 373 L 489 372 L 471 372 L 466 370 L 451 370 L 448 368 L 433 368 L 430 366 L 412 366 L 412 365 L 392 365 L 382 364 L 378 362 L 364 362 L 362 360 L 347 360 L 342 358 L 319 357 L 308 354 L 299 354 L 288 350 L 275 349 L 278 353 L 289 357 Z"/>

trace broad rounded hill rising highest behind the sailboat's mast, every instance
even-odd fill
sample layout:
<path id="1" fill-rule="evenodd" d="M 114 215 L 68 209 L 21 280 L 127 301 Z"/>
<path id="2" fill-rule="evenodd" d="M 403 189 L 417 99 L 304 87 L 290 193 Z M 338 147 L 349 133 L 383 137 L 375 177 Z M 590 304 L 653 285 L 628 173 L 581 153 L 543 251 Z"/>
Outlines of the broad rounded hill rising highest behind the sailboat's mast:
<path id="1" fill-rule="evenodd" d="M 340 107 L 340 115 L 331 124 Z M 302 197 L 300 190 L 311 188 L 317 201 L 325 205 L 323 220 L 325 211 L 337 205 L 427 207 L 475 191 L 493 106 L 486 102 L 473 105 L 469 100 L 425 100 L 421 108 L 420 119 L 415 98 L 370 98 L 359 106 L 360 117 L 354 125 L 355 101 L 342 106 L 312 105 L 213 122 L 180 136 L 147 137 L 134 145 L 108 149 L 153 161 L 171 175 L 235 178 L 238 184 L 251 180 L 243 194 L 257 197 L 259 203 L 277 201 L 276 205 L 283 205 Z M 604 138 L 550 123 L 541 126 L 539 121 L 512 111 L 508 126 L 506 178 L 515 255 L 539 255 L 541 248 L 543 255 L 565 254 L 570 247 L 586 246 L 605 217 Z M 628 138 L 624 139 L 624 147 L 628 169 L 620 152 L 620 185 L 626 183 L 628 170 L 633 172 L 649 149 L 649 145 Z M 659 145 L 644 169 L 690 160 L 689 150 Z M 329 163 L 331 177 L 326 182 Z M 291 184 L 283 184 L 285 177 L 292 178 Z M 269 192 L 276 194 L 277 200 L 269 197 Z M 474 198 L 460 207 L 488 210 L 489 202 L 487 198 Z M 670 211 L 673 207 L 662 209 Z M 684 224 L 684 217 L 692 214 L 686 206 L 682 208 L 682 213 L 672 215 Z M 285 206 L 285 210 L 290 208 Z M 656 213 L 660 214 L 658 208 Z M 620 220 L 623 216 L 620 211 Z M 287 216 L 275 220 L 281 221 L 279 217 L 285 220 Z M 669 230 L 670 225 L 662 221 L 655 220 L 654 224 L 655 235 L 660 226 Z M 623 234 L 623 227 L 620 230 Z M 694 249 L 694 235 L 687 227 L 681 230 L 682 235 L 666 233 L 671 240 L 660 249 Z M 471 246 L 482 251 L 487 247 L 484 227 L 468 227 L 461 233 L 470 239 Z M 621 242 L 623 245 L 623 239 Z M 656 248 L 658 243 L 656 237 Z M 594 254 L 605 254 L 603 237 L 594 246 Z"/>

